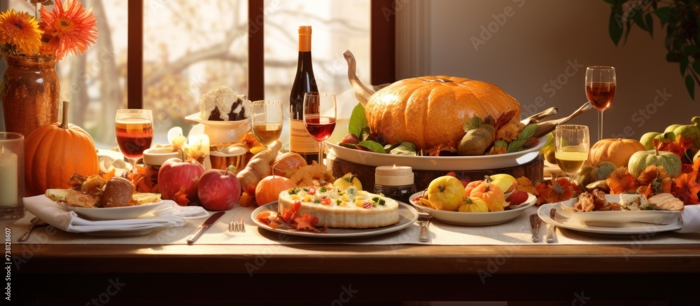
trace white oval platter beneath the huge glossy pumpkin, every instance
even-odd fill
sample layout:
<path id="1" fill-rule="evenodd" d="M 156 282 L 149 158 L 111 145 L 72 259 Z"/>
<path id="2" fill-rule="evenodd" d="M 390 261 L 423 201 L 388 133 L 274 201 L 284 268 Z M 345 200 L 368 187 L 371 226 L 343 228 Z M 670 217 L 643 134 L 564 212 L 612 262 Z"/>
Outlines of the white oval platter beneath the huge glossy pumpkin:
<path id="1" fill-rule="evenodd" d="M 540 138 L 537 146 L 527 150 L 497 155 L 479 156 L 411 156 L 393 155 L 360 151 L 345 148 L 328 141 L 325 144 L 336 158 L 366 166 L 398 165 L 416 170 L 467 171 L 516 167 L 535 160 L 540 155 L 540 148 L 545 146 L 545 137 Z"/>

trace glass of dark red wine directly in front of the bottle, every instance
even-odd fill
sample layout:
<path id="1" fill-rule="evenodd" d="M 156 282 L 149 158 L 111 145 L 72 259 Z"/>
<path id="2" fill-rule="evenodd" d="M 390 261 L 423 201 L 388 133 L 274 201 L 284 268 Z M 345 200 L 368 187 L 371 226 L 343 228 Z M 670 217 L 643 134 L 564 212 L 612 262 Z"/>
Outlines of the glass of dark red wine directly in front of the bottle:
<path id="1" fill-rule="evenodd" d="M 318 141 L 318 165 L 323 165 L 323 141 L 335 130 L 335 93 L 307 92 L 304 94 L 304 126 Z"/>

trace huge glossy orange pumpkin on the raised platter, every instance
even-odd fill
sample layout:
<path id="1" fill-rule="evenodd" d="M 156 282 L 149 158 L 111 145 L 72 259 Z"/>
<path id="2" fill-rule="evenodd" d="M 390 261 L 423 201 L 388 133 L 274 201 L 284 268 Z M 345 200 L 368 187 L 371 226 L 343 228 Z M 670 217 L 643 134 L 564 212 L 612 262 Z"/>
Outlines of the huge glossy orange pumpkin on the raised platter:
<path id="1" fill-rule="evenodd" d="M 417 149 L 433 148 L 464 136 L 464 118 L 498 118 L 520 104 L 491 83 L 452 76 L 423 76 L 395 82 L 367 101 L 367 125 L 389 144 L 409 141 Z"/>

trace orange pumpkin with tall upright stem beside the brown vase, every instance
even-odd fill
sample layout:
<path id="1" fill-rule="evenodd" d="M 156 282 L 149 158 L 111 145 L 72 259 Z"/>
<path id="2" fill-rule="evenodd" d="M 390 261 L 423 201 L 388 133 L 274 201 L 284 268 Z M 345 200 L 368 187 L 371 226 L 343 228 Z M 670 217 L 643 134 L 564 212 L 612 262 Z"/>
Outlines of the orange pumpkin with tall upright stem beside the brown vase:
<path id="1" fill-rule="evenodd" d="M 74 173 L 99 174 L 97 149 L 85 130 L 68 123 L 69 102 L 63 102 L 63 122 L 42 125 L 25 139 L 25 190 L 41 195 L 49 188 L 69 188 Z"/>

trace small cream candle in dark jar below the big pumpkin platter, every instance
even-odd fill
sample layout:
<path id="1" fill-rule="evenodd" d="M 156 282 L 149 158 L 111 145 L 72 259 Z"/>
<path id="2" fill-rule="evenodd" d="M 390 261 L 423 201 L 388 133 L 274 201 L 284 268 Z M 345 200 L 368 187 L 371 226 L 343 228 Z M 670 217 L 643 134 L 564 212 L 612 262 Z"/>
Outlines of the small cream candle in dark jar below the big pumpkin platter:
<path id="1" fill-rule="evenodd" d="M 374 169 L 374 193 L 408 203 L 409 197 L 416 193 L 413 169 L 397 165 L 377 167 Z"/>

